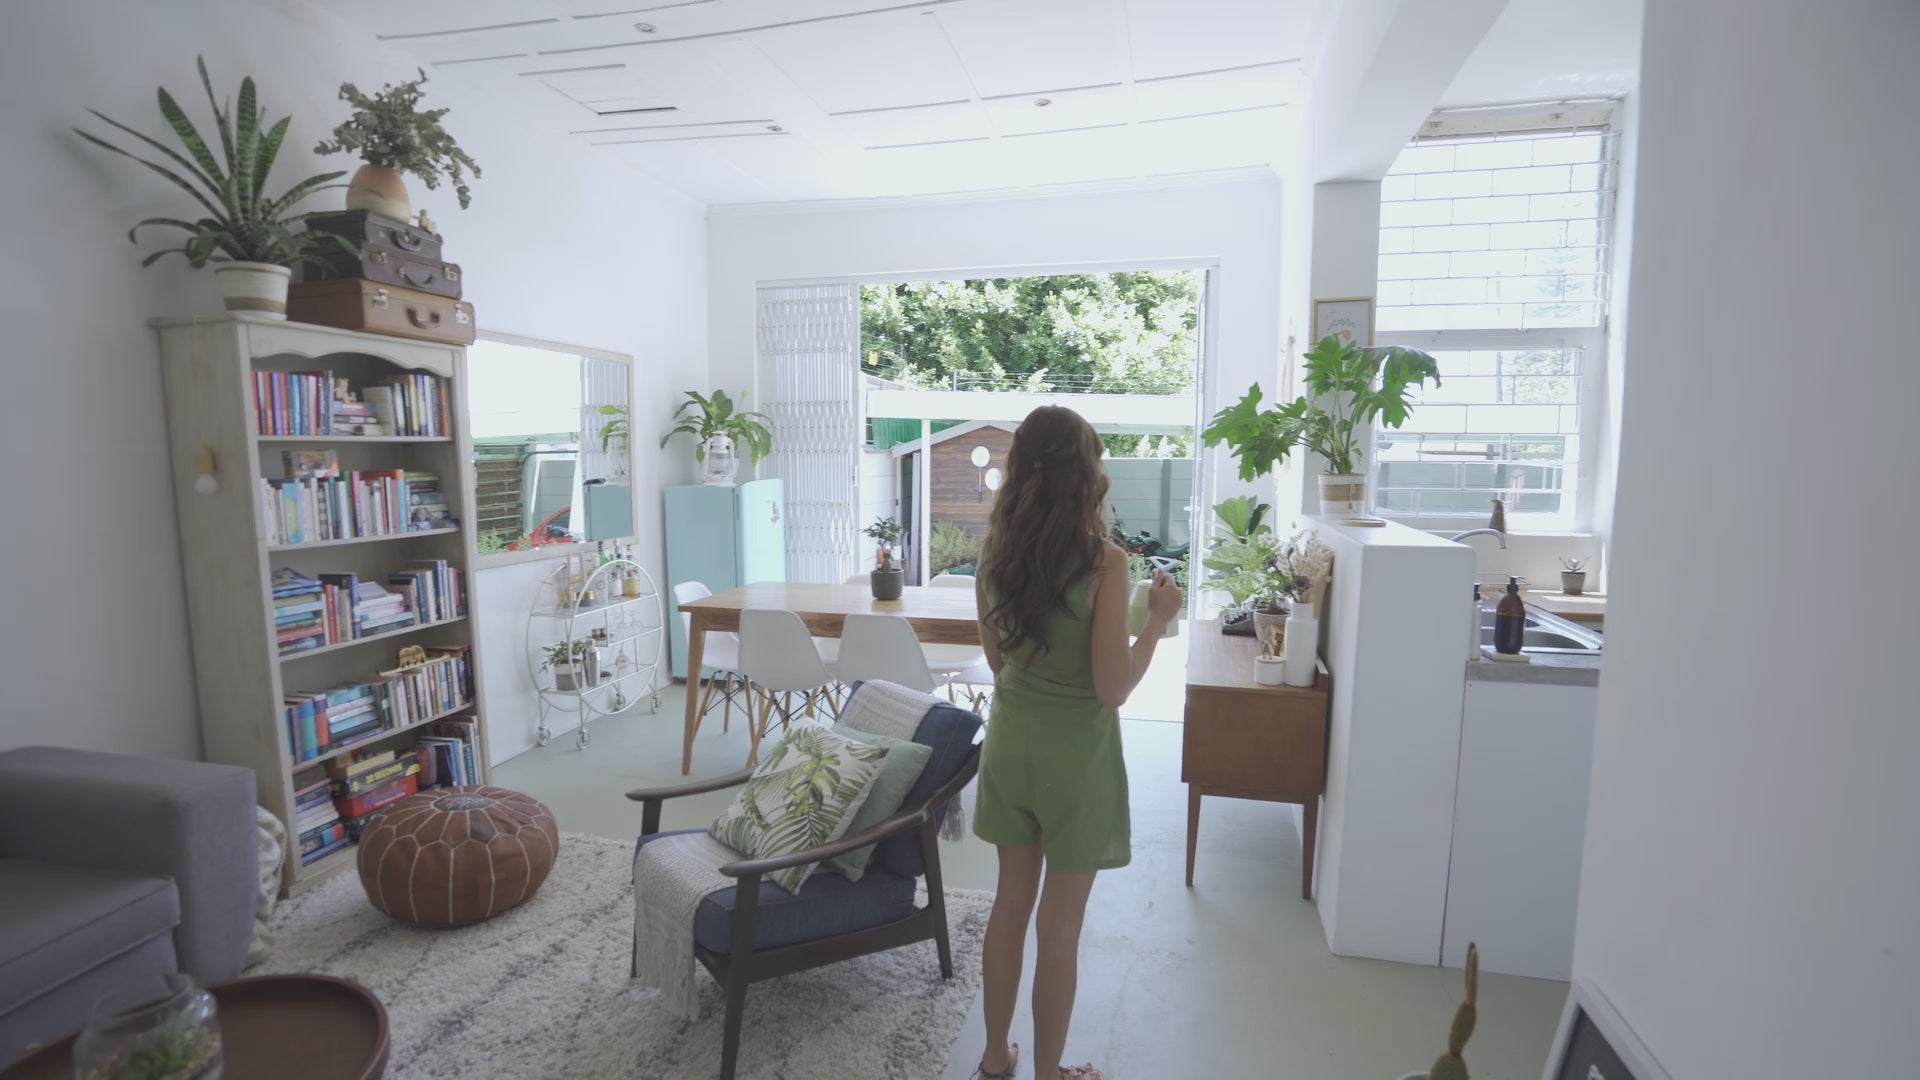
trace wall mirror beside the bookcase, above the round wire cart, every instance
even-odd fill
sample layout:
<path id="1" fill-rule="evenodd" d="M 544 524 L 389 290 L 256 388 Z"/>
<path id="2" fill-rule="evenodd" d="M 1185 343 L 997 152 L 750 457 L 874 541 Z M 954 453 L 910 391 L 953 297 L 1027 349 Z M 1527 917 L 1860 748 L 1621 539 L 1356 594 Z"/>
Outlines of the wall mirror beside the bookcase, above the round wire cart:
<path id="1" fill-rule="evenodd" d="M 482 565 L 634 534 L 632 357 L 482 332 L 467 350 Z"/>

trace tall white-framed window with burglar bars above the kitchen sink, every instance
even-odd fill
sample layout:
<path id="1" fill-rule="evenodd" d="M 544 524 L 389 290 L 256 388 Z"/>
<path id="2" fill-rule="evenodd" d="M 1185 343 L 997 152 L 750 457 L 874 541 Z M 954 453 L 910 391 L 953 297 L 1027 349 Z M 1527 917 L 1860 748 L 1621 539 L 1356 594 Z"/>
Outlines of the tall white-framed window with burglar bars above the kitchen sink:
<path id="1" fill-rule="evenodd" d="M 1588 519 L 1601 398 L 1613 138 L 1605 110 L 1438 113 L 1380 184 L 1377 344 L 1432 352 L 1375 502 L 1411 523 Z"/>

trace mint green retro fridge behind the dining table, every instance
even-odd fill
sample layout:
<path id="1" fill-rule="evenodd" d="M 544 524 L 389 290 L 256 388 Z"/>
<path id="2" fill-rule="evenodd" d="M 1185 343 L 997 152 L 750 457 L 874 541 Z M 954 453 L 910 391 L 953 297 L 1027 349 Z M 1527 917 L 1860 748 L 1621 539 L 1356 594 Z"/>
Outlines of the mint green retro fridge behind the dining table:
<path id="1" fill-rule="evenodd" d="M 666 488 L 666 596 L 697 580 L 726 592 L 758 580 L 787 580 L 785 492 L 780 480 Z M 687 676 L 687 638 L 678 603 L 668 603 L 674 678 Z"/>

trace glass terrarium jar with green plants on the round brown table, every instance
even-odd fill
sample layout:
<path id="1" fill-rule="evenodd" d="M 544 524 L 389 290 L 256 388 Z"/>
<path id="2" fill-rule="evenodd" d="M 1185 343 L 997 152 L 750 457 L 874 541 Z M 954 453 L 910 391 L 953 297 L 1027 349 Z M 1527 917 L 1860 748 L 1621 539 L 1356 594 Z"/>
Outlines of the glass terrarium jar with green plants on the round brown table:
<path id="1" fill-rule="evenodd" d="M 102 1001 L 73 1042 L 75 1080 L 221 1080 L 213 995 L 169 974 Z"/>

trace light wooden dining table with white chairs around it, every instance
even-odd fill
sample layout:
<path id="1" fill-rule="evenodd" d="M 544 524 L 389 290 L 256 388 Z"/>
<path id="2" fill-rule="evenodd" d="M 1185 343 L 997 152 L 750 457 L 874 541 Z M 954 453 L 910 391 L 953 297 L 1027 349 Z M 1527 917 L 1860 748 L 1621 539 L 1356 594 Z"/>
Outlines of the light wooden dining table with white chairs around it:
<path id="1" fill-rule="evenodd" d="M 979 613 L 972 588 L 910 584 L 900 600 L 874 600 L 866 584 L 755 582 L 682 603 L 687 613 L 687 721 L 680 751 L 680 774 L 693 773 L 693 734 L 701 726 L 701 653 L 708 630 L 739 630 L 739 613 L 749 607 L 793 611 L 816 638 L 837 638 L 849 615 L 899 615 L 914 626 L 924 646 L 977 646 Z"/>

